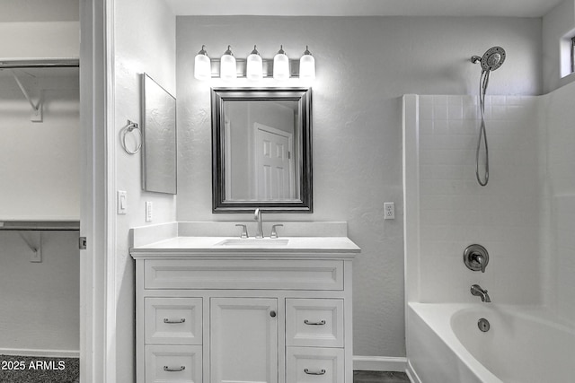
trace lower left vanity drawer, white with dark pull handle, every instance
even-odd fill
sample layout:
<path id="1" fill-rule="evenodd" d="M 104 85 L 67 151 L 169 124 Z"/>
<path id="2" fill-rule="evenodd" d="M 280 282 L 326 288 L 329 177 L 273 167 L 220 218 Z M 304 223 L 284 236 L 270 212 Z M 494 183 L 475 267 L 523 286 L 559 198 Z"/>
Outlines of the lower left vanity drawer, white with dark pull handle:
<path id="1" fill-rule="evenodd" d="M 146 383 L 201 383 L 200 345 L 146 345 Z"/>

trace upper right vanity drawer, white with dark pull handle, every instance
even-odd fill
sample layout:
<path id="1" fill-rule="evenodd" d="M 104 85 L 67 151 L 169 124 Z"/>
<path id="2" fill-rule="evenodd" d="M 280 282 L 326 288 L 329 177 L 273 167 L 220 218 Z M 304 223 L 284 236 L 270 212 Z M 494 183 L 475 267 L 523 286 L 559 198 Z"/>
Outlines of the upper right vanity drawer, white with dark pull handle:
<path id="1" fill-rule="evenodd" d="M 286 344 L 343 347 L 343 300 L 287 299 Z"/>

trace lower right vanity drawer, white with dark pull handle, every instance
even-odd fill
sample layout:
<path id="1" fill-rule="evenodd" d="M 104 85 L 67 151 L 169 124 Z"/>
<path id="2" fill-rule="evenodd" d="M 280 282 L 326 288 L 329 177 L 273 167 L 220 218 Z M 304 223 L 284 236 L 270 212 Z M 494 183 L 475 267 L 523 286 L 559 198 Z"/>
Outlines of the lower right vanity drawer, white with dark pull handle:
<path id="1" fill-rule="evenodd" d="M 286 383 L 344 383 L 341 348 L 288 347 Z"/>

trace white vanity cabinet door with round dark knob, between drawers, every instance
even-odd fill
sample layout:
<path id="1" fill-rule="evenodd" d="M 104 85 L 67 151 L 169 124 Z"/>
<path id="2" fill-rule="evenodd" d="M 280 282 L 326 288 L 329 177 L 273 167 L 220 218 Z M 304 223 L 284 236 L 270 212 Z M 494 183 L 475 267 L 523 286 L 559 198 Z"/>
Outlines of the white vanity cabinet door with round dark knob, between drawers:
<path id="1" fill-rule="evenodd" d="M 211 381 L 278 382 L 278 300 L 211 298 Z"/>

